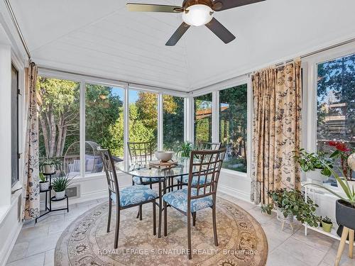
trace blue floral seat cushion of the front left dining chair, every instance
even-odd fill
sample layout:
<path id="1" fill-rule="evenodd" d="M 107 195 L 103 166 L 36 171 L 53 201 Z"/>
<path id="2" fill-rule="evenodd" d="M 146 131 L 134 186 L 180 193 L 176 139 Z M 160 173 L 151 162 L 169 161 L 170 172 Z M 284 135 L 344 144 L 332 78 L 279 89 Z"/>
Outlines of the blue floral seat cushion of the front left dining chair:
<path id="1" fill-rule="evenodd" d="M 158 194 L 147 186 L 138 184 L 135 186 L 125 187 L 119 191 L 119 201 L 121 207 L 140 204 L 144 201 L 156 199 Z M 111 199 L 116 203 L 116 194 L 111 194 Z"/>

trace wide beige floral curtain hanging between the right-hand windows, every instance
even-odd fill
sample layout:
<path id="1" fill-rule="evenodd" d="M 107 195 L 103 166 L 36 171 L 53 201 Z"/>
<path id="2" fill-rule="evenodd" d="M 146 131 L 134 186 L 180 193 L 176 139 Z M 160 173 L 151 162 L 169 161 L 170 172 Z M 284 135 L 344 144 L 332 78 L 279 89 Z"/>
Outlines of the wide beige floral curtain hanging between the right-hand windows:
<path id="1" fill-rule="evenodd" d="M 300 189 L 293 159 L 300 150 L 300 59 L 253 74 L 251 201 L 268 204 L 268 191 Z"/>

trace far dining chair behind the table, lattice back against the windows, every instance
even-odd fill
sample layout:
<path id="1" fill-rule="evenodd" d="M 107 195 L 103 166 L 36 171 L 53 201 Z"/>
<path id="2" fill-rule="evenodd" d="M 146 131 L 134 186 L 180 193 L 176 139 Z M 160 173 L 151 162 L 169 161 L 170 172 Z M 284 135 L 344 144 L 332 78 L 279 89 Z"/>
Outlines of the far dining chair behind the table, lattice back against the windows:
<path id="1" fill-rule="evenodd" d="M 151 142 L 128 142 L 127 145 L 132 164 L 146 165 L 149 161 L 153 160 L 153 146 Z M 149 185 L 151 189 L 153 188 L 153 184 L 159 181 L 160 179 L 158 178 L 132 177 L 132 185 Z M 137 218 L 142 220 L 142 206 L 138 206 Z"/>

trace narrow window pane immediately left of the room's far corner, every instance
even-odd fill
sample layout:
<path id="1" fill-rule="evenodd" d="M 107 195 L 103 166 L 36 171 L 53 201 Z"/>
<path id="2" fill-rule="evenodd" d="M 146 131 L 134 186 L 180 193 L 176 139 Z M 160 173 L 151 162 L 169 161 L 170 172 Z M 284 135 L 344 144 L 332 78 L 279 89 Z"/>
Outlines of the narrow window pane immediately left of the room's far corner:
<path id="1" fill-rule="evenodd" d="M 184 142 L 184 98 L 163 95 L 164 150 L 177 152 Z"/>

